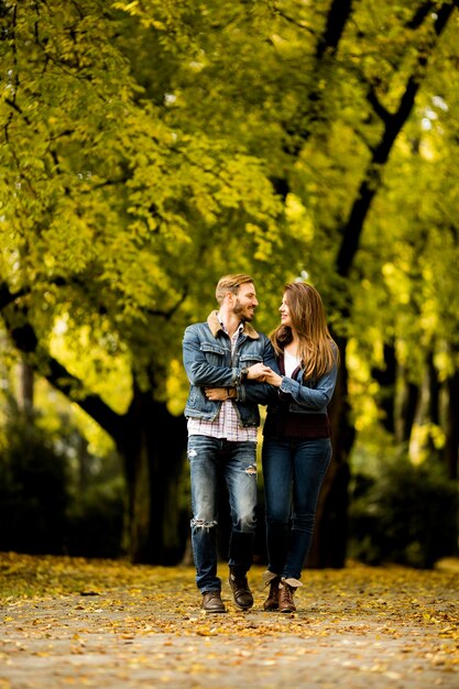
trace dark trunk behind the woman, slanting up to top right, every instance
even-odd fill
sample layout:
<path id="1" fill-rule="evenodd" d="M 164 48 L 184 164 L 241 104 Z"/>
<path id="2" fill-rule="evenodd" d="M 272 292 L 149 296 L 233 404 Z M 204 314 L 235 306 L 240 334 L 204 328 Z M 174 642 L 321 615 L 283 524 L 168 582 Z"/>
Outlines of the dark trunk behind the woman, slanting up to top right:
<path id="1" fill-rule="evenodd" d="M 342 4 L 342 3 L 341 3 Z M 334 3 L 334 7 L 337 7 Z M 349 17 L 351 3 L 342 6 L 343 17 Z M 453 11 L 450 3 L 442 3 L 434 20 L 434 34 L 439 36 Z M 345 22 L 346 23 L 346 22 Z M 342 24 L 345 25 L 345 24 Z M 384 124 L 380 141 L 372 149 L 372 156 L 363 173 L 349 217 L 341 228 L 342 240 L 337 253 L 336 272 L 348 280 L 359 249 L 363 225 L 381 185 L 381 174 L 391 154 L 393 144 L 413 111 L 417 91 L 426 73 L 429 53 L 436 44 L 435 37 L 426 50 L 418 54 L 417 67 L 405 84 L 404 92 L 394 112 L 385 110 L 369 87 L 369 101 Z M 351 303 L 341 309 L 341 321 L 349 319 Z M 347 505 L 349 483 L 349 453 L 354 429 L 349 414 L 347 390 L 345 337 L 335 338 L 341 353 L 341 365 L 337 390 L 330 408 L 334 427 L 334 459 L 324 482 L 316 515 L 313 547 L 307 558 L 310 567 L 342 567 L 346 560 Z"/>

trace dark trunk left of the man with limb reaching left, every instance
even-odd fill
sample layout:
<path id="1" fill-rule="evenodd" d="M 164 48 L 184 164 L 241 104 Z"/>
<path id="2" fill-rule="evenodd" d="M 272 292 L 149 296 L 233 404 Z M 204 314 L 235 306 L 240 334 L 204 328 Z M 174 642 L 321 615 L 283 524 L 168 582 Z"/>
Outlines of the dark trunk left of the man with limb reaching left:
<path id="1" fill-rule="evenodd" d="M 7 295 L 8 296 L 8 295 Z M 39 346 L 29 322 L 11 327 L 14 344 L 26 362 L 69 400 L 76 402 L 113 438 L 123 459 L 127 484 L 125 546 L 134 562 L 175 565 L 181 561 L 187 529 L 181 486 L 186 451 L 186 419 L 170 414 L 153 398 L 154 387 L 135 384 L 124 416 L 98 395 L 86 393 L 81 381 Z"/>

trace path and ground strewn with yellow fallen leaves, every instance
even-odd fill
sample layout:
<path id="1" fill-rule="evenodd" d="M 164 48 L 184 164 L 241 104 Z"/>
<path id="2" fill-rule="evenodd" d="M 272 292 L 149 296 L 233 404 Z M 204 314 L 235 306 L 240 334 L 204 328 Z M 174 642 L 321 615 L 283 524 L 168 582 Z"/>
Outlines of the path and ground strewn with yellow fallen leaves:
<path id="1" fill-rule="evenodd" d="M 192 568 L 0 554 L 0 689 L 458 689 L 455 562 L 306 571 L 292 615 L 262 571 L 252 611 L 225 586 L 206 615 Z"/>

